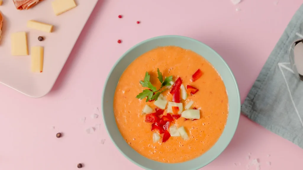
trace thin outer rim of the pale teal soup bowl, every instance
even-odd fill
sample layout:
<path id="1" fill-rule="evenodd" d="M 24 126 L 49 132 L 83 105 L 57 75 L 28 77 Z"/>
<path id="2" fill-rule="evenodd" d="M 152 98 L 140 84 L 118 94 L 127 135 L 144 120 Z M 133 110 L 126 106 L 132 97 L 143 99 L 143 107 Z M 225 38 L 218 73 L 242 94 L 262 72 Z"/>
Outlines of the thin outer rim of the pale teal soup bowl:
<path id="1" fill-rule="evenodd" d="M 221 153 L 226 149 L 226 147 L 229 145 L 229 143 L 231 142 L 231 139 L 234 137 L 235 135 L 235 132 L 236 132 L 236 129 L 238 127 L 238 123 L 239 123 L 239 119 L 240 119 L 240 115 L 241 115 L 241 99 L 240 99 L 240 92 L 239 92 L 239 87 L 238 87 L 238 83 L 237 83 L 237 80 L 235 79 L 235 75 L 233 74 L 233 72 L 231 71 L 230 67 L 228 66 L 228 64 L 226 63 L 226 61 L 221 57 L 220 54 L 218 54 L 215 50 L 213 50 L 211 47 L 209 47 L 208 45 L 202 43 L 201 41 L 198 41 L 194 38 L 189 38 L 189 37 L 185 37 L 185 36 L 181 36 L 181 35 L 161 35 L 161 36 L 157 36 L 157 37 L 152 37 L 152 38 L 148 38 L 144 41 L 141 41 L 139 42 L 138 44 L 135 44 L 133 47 L 131 47 L 130 49 L 128 49 L 125 53 L 122 54 L 121 57 L 119 57 L 119 59 L 115 62 L 115 64 L 112 66 L 111 70 L 109 71 L 107 77 L 106 77 L 106 80 L 105 80 L 105 83 L 104 83 L 104 86 L 103 86 L 103 90 L 102 90 L 102 119 L 103 119 L 103 123 L 104 123 L 104 126 L 105 126 L 105 129 L 106 129 L 106 132 L 109 136 L 109 138 L 111 139 L 111 141 L 113 142 L 113 144 L 115 145 L 115 147 L 119 150 L 120 153 L 122 153 L 122 155 L 127 158 L 129 161 L 131 161 L 132 163 L 134 163 L 135 165 L 141 167 L 141 168 L 144 168 L 146 170 L 153 170 L 153 169 L 149 169 L 141 164 L 138 164 L 137 162 L 135 162 L 133 159 L 131 159 L 130 157 L 128 157 L 116 144 L 116 142 L 113 140 L 112 138 L 112 135 L 109 133 L 108 131 L 108 128 L 107 128 L 107 124 L 105 122 L 105 119 L 104 119 L 104 110 L 103 110 L 103 106 L 104 106 L 104 92 L 105 92 L 105 87 L 106 87 L 106 84 L 108 83 L 108 79 L 109 77 L 111 76 L 113 70 L 115 69 L 115 67 L 117 66 L 117 64 L 120 62 L 120 60 L 122 60 L 122 58 L 124 58 L 130 51 L 132 51 L 133 49 L 137 48 L 138 46 L 140 46 L 141 44 L 144 44 L 146 42 L 149 42 L 149 41 L 153 41 L 153 40 L 156 40 L 156 39 L 160 39 L 160 38 L 183 38 L 183 39 L 187 39 L 187 40 L 190 40 L 190 41 L 195 41 L 196 43 L 198 44 L 201 44 L 201 45 L 204 45 L 205 47 L 207 47 L 210 51 L 214 52 L 215 54 L 217 54 L 221 60 L 224 62 L 224 64 L 226 65 L 226 67 L 228 68 L 229 72 L 231 73 L 231 76 L 235 82 L 235 85 L 236 85 L 236 89 L 237 89 L 237 95 L 238 95 L 238 103 L 239 103 L 239 108 L 238 108 L 238 116 L 237 116 L 237 125 L 231 130 L 232 131 L 232 135 L 230 136 L 230 138 L 228 138 L 228 141 L 225 143 L 225 146 L 224 146 L 224 149 L 220 152 L 218 152 L 218 155 L 215 156 L 213 159 L 211 159 L 210 161 L 206 162 L 205 165 L 202 165 L 199 166 L 199 167 L 196 167 L 198 169 L 200 168 L 203 168 L 204 166 L 208 165 L 209 163 L 211 163 L 212 161 L 214 161 L 216 158 L 218 158 L 219 155 L 221 155 Z M 221 137 L 221 136 L 220 136 Z M 201 156 L 201 155 L 200 155 Z M 198 158 L 198 157 L 197 157 Z M 163 162 L 161 162 L 163 163 Z M 183 162 L 179 162 L 179 163 L 183 163 Z M 196 168 L 194 169 L 188 169 L 188 170 L 197 170 Z"/>

